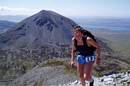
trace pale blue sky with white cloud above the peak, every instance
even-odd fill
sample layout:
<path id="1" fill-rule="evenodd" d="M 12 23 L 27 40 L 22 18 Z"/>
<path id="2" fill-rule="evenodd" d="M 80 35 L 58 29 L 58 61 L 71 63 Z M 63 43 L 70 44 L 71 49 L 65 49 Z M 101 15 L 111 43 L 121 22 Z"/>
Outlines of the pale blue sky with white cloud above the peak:
<path id="1" fill-rule="evenodd" d="M 0 15 L 52 10 L 65 16 L 130 17 L 130 0 L 0 0 Z"/>

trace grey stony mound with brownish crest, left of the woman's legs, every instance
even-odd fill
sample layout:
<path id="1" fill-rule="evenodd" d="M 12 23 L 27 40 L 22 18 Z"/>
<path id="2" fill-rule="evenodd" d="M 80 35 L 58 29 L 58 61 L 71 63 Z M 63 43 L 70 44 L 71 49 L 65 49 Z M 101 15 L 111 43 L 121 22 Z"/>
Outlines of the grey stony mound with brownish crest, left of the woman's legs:
<path id="1" fill-rule="evenodd" d="M 77 79 L 74 73 L 60 61 L 42 63 L 13 81 L 11 86 L 58 86 Z"/>

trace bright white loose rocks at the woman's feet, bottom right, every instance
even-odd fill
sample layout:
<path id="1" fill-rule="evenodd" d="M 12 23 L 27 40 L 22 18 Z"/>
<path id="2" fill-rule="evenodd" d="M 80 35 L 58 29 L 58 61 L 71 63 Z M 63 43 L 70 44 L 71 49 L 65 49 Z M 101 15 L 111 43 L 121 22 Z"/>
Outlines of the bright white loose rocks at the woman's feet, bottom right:
<path id="1" fill-rule="evenodd" d="M 130 86 L 130 74 L 119 73 L 99 78 L 94 77 L 94 81 L 94 86 Z M 81 83 L 76 80 L 59 86 L 81 86 Z M 86 82 L 86 86 L 89 86 L 89 82 Z"/>

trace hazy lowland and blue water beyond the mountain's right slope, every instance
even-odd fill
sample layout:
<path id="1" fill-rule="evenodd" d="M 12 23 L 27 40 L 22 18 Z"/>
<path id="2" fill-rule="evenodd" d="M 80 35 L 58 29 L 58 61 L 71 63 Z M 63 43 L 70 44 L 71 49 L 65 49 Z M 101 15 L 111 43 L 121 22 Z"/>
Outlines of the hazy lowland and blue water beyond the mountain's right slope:
<path id="1" fill-rule="evenodd" d="M 100 38 L 108 40 L 110 47 L 130 57 L 129 18 L 73 18 L 78 24 Z"/>

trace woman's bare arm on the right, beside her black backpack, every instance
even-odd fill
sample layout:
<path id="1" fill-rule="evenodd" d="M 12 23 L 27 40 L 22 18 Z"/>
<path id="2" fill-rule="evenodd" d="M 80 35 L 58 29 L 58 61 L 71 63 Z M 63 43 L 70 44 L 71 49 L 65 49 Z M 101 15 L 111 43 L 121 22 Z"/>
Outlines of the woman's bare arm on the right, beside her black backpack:
<path id="1" fill-rule="evenodd" d="M 98 43 L 96 43 L 92 38 L 87 37 L 86 39 L 87 43 L 93 47 L 96 48 L 96 54 L 97 54 L 97 58 L 100 58 L 100 53 L 101 53 L 101 47 L 99 46 Z"/>

